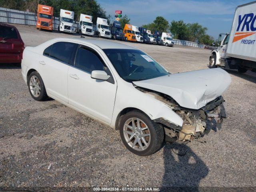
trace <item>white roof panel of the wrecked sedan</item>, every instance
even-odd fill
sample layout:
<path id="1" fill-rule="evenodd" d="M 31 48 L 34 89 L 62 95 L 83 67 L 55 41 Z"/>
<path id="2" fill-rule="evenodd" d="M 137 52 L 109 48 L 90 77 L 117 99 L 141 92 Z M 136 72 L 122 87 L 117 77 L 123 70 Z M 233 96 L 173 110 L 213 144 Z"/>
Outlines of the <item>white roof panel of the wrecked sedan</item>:
<path id="1" fill-rule="evenodd" d="M 85 39 L 85 38 L 58 38 L 58 41 L 76 41 L 78 43 L 90 43 L 94 44 L 101 49 L 136 49 L 138 48 L 128 46 L 126 44 L 112 42 L 108 40 L 101 40 L 101 39 Z"/>

